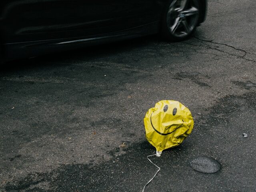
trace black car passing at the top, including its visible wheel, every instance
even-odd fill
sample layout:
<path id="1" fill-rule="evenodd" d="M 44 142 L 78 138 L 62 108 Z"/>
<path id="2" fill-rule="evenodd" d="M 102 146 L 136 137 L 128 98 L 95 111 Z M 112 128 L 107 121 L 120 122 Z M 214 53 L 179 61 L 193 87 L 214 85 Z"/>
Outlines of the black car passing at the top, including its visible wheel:
<path id="1" fill-rule="evenodd" d="M 160 32 L 184 40 L 206 0 L 1 0 L 0 54 L 25 58 Z"/>

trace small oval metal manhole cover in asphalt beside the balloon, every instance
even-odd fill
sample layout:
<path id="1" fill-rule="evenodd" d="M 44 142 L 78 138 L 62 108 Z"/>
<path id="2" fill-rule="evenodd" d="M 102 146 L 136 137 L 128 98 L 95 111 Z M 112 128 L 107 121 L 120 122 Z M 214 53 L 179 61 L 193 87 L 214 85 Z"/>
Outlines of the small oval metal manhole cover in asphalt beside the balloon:
<path id="1" fill-rule="evenodd" d="M 220 163 L 213 158 L 198 157 L 190 162 L 190 166 L 202 173 L 215 173 L 220 170 Z"/>

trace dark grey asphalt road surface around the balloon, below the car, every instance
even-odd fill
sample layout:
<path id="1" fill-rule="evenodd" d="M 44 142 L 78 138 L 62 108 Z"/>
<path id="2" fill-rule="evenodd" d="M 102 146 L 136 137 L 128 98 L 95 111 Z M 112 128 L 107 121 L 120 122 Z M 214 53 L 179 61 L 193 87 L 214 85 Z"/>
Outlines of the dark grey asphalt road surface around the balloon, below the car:
<path id="1" fill-rule="evenodd" d="M 190 109 L 194 130 L 151 158 L 161 170 L 145 192 L 255 192 L 255 10 L 255 0 L 209 0 L 206 22 L 184 42 L 149 36 L 9 63 L 0 191 L 142 191 L 157 170 L 143 118 L 172 99 Z M 198 156 L 221 170 L 193 170 Z"/>

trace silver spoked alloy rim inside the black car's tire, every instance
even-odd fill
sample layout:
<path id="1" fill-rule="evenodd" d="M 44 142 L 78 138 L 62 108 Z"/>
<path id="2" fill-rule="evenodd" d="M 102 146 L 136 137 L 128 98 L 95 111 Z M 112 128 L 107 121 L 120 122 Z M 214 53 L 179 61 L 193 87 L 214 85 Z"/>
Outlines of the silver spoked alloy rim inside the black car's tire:
<path id="1" fill-rule="evenodd" d="M 197 0 L 173 0 L 167 12 L 168 30 L 178 38 L 188 36 L 196 27 L 198 18 Z"/>

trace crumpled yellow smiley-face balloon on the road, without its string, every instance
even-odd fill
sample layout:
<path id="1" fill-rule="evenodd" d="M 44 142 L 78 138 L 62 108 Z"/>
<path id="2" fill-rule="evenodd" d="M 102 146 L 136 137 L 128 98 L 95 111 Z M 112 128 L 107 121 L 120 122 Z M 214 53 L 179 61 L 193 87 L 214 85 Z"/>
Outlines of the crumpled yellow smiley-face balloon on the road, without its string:
<path id="1" fill-rule="evenodd" d="M 148 110 L 144 125 L 148 142 L 162 152 L 181 144 L 192 132 L 194 120 L 190 110 L 180 102 L 162 100 Z"/>

